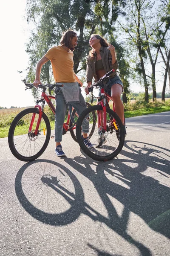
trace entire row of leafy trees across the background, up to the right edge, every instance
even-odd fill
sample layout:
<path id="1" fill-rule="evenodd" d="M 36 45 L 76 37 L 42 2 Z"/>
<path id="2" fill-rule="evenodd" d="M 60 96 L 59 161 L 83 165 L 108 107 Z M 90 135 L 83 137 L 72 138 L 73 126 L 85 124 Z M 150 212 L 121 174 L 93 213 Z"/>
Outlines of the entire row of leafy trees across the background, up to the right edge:
<path id="1" fill-rule="evenodd" d="M 124 84 L 123 102 L 128 100 L 133 81 L 144 86 L 146 102 L 152 85 L 156 99 L 156 65 L 160 58 L 165 66 L 164 94 L 167 75 L 170 80 L 168 0 L 27 0 L 27 20 L 34 23 L 34 29 L 26 50 L 30 56 L 26 81 L 34 81 L 38 60 L 59 44 L 63 31 L 71 28 L 78 34 L 75 73 L 85 77 L 86 57 L 91 49 L 88 41 L 96 33 L 115 46 L 118 74 Z M 54 82 L 49 61 L 42 66 L 41 80 Z"/>

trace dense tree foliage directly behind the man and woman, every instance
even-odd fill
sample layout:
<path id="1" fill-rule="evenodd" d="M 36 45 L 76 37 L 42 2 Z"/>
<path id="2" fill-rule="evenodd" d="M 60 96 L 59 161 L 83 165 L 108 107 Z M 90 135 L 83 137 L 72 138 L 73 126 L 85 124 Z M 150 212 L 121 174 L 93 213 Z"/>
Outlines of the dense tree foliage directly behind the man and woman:
<path id="1" fill-rule="evenodd" d="M 74 71 L 86 70 L 86 57 L 90 50 L 89 38 L 93 33 L 104 36 L 115 45 L 118 52 L 119 70 L 127 82 L 128 64 L 123 58 L 123 47 L 116 43 L 115 21 L 124 14 L 125 0 L 28 0 L 27 20 L 36 24 L 32 31 L 27 52 L 30 67 L 27 80 L 34 81 L 37 61 L 54 44 L 59 44 L 62 32 L 71 28 L 77 31 L 78 45 L 74 51 Z M 52 77 L 50 63 L 42 67 L 41 80 L 49 82 Z M 49 78 L 49 80 L 48 80 Z M 128 91 L 128 89 L 127 89 Z"/>

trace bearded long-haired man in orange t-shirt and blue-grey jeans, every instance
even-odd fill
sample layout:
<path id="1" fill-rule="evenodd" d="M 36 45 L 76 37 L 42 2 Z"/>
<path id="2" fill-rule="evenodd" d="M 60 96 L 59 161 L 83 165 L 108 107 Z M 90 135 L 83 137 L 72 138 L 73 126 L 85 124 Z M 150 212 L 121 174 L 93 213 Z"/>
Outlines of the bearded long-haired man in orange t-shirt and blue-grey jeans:
<path id="1" fill-rule="evenodd" d="M 71 104 L 80 115 L 86 108 L 85 99 L 82 96 L 79 84 L 82 82 L 74 73 L 73 51 L 77 46 L 77 33 L 71 29 L 62 34 L 59 46 L 54 46 L 38 61 L 34 86 L 41 84 L 40 73 L 42 65 L 51 61 L 53 76 L 56 83 L 64 84 L 64 87 L 56 89 L 56 114 L 55 114 L 55 153 L 58 157 L 65 156 L 62 151 L 62 126 L 68 104 Z M 79 84 L 78 84 L 79 83 Z M 87 124 L 82 125 L 83 140 L 88 147 L 93 147 L 88 138 Z M 85 128 L 86 127 L 86 128 Z"/>

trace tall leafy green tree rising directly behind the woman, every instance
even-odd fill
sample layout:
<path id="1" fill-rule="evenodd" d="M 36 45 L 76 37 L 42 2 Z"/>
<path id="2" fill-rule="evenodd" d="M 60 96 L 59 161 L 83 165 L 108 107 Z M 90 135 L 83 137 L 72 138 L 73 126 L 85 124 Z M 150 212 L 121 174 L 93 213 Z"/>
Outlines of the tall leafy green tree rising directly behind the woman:
<path id="1" fill-rule="evenodd" d="M 116 20 L 119 15 L 125 15 L 122 11 L 125 8 L 126 1 L 97 1 L 94 8 L 94 13 L 98 17 L 98 23 L 96 24 L 95 32 L 108 39 L 110 44 L 113 44 L 116 49 L 117 60 L 119 63 L 119 76 L 124 84 L 123 102 L 127 103 L 127 93 L 129 93 L 129 76 L 130 65 L 125 58 L 125 48 L 121 43 L 118 43 L 118 35 L 116 32 Z M 97 18 L 96 18 L 97 19 Z"/>

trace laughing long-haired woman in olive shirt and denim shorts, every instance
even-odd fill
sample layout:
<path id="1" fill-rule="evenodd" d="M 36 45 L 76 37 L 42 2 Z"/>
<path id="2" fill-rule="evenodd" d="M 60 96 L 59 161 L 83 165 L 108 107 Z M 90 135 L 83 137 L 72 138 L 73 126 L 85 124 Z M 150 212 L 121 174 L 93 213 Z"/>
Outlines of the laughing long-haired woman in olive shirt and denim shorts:
<path id="1" fill-rule="evenodd" d="M 95 82 L 108 73 L 111 70 L 115 70 L 108 80 L 106 86 L 108 88 L 108 94 L 111 95 L 115 111 L 124 125 L 124 132 L 126 136 L 126 129 L 124 124 L 124 106 L 120 98 L 123 92 L 123 83 L 116 73 L 118 68 L 118 62 L 116 59 L 115 47 L 102 38 L 100 35 L 92 34 L 89 40 L 89 44 L 92 47 L 87 57 L 87 87 L 85 88 L 86 94 L 88 94 L 88 87 L 91 87 L 92 79 L 94 77 Z M 97 147 L 102 147 L 106 142 L 105 140 L 99 141 Z"/>

